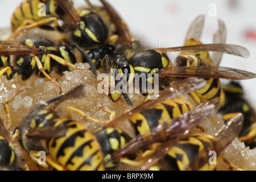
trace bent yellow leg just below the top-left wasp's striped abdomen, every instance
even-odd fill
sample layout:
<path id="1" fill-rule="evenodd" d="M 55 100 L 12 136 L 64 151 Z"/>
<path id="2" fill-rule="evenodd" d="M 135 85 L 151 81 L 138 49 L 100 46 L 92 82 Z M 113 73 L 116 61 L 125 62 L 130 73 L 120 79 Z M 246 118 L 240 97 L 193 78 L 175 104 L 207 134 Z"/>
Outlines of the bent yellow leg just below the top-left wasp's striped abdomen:
<path id="1" fill-rule="evenodd" d="M 24 30 L 39 27 L 39 26 L 42 26 L 42 25 L 45 25 L 45 24 L 48 24 L 48 23 L 51 23 L 51 22 L 53 22 L 56 27 L 59 27 L 59 24 L 57 23 L 57 18 L 56 17 L 50 17 L 50 18 L 47 18 L 47 19 L 39 20 L 38 22 L 34 22 L 32 24 L 28 24 L 29 21 L 24 22 L 24 24 L 27 24 L 27 25 L 20 26 L 19 28 L 17 28 L 15 30 L 15 32 L 13 32 L 13 34 L 11 34 L 7 40 L 10 40 L 11 38 L 15 38 L 16 36 L 18 36 L 20 34 L 20 32 L 22 32 Z"/>

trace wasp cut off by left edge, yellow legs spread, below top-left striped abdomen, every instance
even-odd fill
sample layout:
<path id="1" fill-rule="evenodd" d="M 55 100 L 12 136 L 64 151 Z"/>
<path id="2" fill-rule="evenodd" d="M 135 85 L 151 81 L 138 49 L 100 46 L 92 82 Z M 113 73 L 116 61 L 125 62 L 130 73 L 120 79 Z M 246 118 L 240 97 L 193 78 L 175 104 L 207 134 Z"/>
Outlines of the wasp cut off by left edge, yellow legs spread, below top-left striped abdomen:
<path id="1" fill-rule="evenodd" d="M 11 59 L 11 56 L 14 58 Z M 32 73 L 43 73 L 44 77 L 59 88 L 59 93 L 62 92 L 59 83 L 48 74 L 52 68 L 57 68 L 59 73 L 64 70 L 88 69 L 77 67 L 75 63 L 76 57 L 69 46 L 40 35 L 25 37 L 20 42 L 0 43 L 0 76 L 6 73 L 7 79 L 11 79 L 21 75 L 22 80 L 26 81 Z"/>

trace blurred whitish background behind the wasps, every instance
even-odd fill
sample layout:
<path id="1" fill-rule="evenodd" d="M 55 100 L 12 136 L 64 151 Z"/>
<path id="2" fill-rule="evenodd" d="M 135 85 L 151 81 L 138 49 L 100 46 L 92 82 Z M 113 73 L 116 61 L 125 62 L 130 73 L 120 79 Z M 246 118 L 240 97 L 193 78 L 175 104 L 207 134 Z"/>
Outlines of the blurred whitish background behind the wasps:
<path id="1" fill-rule="evenodd" d="M 0 0 L 0 27 L 10 27 L 10 18 L 22 0 Z M 85 5 L 76 0 L 75 6 Z M 98 3 L 92 0 L 92 3 Z M 256 73 L 256 1 L 255 0 L 108 0 L 127 23 L 134 36 L 154 47 L 182 46 L 188 27 L 196 16 L 205 15 L 201 41 L 212 43 L 217 20 L 226 25 L 226 43 L 238 44 L 250 51 L 250 57 L 224 55 L 221 66 Z M 240 81 L 245 97 L 256 107 L 256 78 Z"/>

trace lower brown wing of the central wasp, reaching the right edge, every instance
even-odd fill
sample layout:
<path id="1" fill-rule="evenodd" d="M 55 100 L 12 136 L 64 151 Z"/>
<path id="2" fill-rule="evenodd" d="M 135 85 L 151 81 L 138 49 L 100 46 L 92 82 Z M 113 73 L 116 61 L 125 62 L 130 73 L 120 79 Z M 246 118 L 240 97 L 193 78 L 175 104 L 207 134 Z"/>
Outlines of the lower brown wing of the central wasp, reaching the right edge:
<path id="1" fill-rule="evenodd" d="M 241 69 L 201 65 L 197 67 L 168 67 L 159 71 L 159 77 L 200 77 L 224 78 L 229 80 L 246 80 L 255 78 L 256 74 Z"/>

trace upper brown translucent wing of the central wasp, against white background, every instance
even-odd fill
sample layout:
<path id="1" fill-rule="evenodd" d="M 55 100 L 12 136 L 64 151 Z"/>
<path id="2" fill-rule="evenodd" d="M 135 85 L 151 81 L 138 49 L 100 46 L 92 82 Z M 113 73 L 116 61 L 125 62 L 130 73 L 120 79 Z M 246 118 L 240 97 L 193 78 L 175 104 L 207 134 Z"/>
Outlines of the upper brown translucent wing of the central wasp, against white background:
<path id="1" fill-rule="evenodd" d="M 214 51 L 228 53 L 230 55 L 249 57 L 250 52 L 242 46 L 236 44 L 197 44 L 192 46 L 180 46 L 169 48 L 154 48 L 154 50 L 162 52 L 179 52 L 179 51 Z"/>

